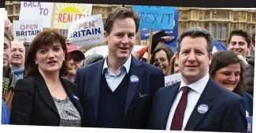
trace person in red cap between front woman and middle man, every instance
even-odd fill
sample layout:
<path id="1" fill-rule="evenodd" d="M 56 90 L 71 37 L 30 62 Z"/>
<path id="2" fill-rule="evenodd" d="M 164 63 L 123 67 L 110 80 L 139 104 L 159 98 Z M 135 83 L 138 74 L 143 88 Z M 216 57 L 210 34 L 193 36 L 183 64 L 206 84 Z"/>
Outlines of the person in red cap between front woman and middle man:
<path id="1" fill-rule="evenodd" d="M 70 66 L 70 70 L 66 76 L 63 76 L 65 79 L 68 79 L 71 82 L 74 82 L 74 78 L 76 75 L 77 68 L 81 68 L 81 62 L 84 60 L 83 52 L 77 47 L 70 43 L 66 42 L 67 50 L 68 50 L 68 63 Z"/>

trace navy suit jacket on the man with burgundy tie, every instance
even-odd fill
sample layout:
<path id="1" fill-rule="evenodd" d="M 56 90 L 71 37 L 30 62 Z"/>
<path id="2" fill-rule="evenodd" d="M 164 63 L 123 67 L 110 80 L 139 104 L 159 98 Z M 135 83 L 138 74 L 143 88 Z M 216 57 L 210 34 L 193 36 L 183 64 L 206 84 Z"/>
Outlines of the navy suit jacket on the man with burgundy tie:
<path id="1" fill-rule="evenodd" d="M 149 129 L 165 130 L 179 87 L 180 82 L 158 91 L 150 115 Z M 198 113 L 198 106 L 202 104 L 208 105 L 206 113 Z M 210 78 L 184 131 L 247 132 L 245 109 L 242 97 L 219 86 Z"/>

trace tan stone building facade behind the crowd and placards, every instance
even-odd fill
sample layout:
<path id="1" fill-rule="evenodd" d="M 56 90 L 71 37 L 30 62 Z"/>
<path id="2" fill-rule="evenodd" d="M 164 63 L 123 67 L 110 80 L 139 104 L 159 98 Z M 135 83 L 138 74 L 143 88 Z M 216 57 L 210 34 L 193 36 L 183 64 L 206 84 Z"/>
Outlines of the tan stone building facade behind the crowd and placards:
<path id="1" fill-rule="evenodd" d="M 93 4 L 91 14 L 102 14 L 103 21 L 106 21 L 109 13 L 121 5 Z M 132 8 L 132 6 L 126 6 Z M 256 12 L 252 9 L 211 9 L 211 8 L 190 8 L 179 7 L 179 35 L 187 28 L 199 26 L 209 30 L 214 39 L 227 46 L 228 35 L 235 29 L 242 29 L 250 32 L 255 28 Z M 9 19 L 19 20 L 20 2 L 6 1 L 6 10 Z M 67 30 L 61 30 L 68 35 Z"/>

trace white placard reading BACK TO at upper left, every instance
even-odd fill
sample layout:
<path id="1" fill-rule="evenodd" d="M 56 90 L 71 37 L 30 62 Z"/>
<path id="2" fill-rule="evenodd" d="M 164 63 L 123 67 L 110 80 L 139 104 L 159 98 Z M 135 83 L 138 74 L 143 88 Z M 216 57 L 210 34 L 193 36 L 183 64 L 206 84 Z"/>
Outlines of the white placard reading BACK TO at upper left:
<path id="1" fill-rule="evenodd" d="M 50 28 L 54 3 L 20 2 L 19 20 L 43 20 L 43 28 Z"/>

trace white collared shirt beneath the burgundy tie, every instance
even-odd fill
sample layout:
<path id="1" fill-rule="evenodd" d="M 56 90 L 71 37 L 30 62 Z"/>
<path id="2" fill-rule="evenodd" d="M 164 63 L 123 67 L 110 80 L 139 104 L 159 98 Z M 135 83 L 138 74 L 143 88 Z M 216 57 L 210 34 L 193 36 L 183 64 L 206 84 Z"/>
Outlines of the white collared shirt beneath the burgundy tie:
<path id="1" fill-rule="evenodd" d="M 208 83 L 208 80 L 210 79 L 209 74 L 207 74 L 206 76 L 204 76 L 202 79 L 199 79 L 198 81 L 196 81 L 195 83 L 192 83 L 190 85 L 187 85 L 184 83 L 184 80 L 181 79 L 180 82 L 180 88 L 179 88 L 179 92 L 176 95 L 176 98 L 173 101 L 173 105 L 171 107 L 170 113 L 169 113 L 169 118 L 167 120 L 167 124 L 166 124 L 166 130 L 170 130 L 171 125 L 172 125 L 172 120 L 173 120 L 173 115 L 175 113 L 175 109 L 178 105 L 178 103 L 180 102 L 180 98 L 181 95 L 183 93 L 183 90 L 181 90 L 182 87 L 187 86 L 190 87 L 191 89 L 187 92 L 187 107 L 184 113 L 184 120 L 183 120 L 183 125 L 181 130 L 184 131 L 184 128 L 187 125 L 187 120 L 189 119 L 189 117 L 191 116 L 192 111 L 195 108 L 196 103 L 198 102 L 198 99 L 200 98 L 202 91 L 204 91 L 206 84 Z"/>

